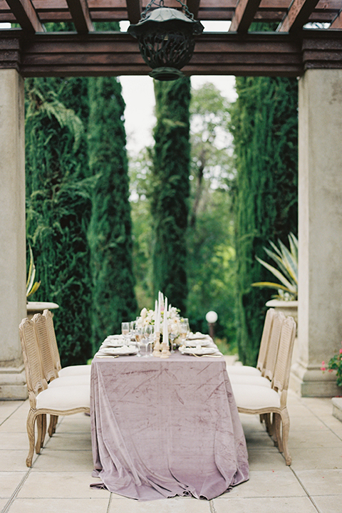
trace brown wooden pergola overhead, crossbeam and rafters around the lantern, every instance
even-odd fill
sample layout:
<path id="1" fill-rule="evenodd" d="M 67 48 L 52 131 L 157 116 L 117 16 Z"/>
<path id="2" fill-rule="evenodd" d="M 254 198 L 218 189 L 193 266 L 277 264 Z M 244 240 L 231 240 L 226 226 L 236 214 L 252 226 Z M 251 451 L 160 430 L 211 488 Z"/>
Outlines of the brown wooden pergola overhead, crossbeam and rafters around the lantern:
<path id="1" fill-rule="evenodd" d="M 0 68 L 23 76 L 149 73 L 137 41 L 125 32 L 101 33 L 93 22 L 138 23 L 148 0 L 0 0 Z M 180 9 L 177 0 L 165 5 Z M 192 74 L 301 76 L 307 68 L 342 68 L 342 0 L 187 0 L 202 21 L 232 21 L 229 31 L 197 36 L 183 68 Z M 44 24 L 72 21 L 75 33 L 44 32 Z M 257 33 L 254 21 L 279 22 Z M 304 28 L 307 22 L 321 24 Z M 328 25 L 331 24 L 331 25 Z"/>

